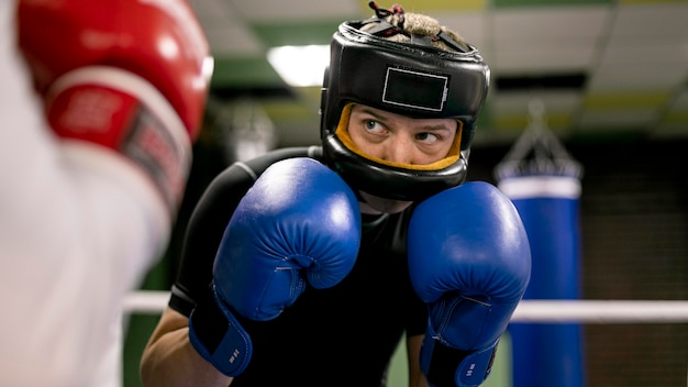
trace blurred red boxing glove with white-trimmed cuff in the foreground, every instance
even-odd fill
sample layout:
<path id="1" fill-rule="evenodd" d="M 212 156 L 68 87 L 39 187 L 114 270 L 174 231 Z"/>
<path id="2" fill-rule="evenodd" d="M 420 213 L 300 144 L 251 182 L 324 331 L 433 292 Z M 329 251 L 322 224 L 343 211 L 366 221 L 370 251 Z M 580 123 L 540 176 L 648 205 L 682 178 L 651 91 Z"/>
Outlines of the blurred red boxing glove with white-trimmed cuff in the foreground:
<path id="1" fill-rule="evenodd" d="M 53 130 L 134 161 L 174 210 L 212 73 L 186 0 L 20 0 L 18 26 Z"/>

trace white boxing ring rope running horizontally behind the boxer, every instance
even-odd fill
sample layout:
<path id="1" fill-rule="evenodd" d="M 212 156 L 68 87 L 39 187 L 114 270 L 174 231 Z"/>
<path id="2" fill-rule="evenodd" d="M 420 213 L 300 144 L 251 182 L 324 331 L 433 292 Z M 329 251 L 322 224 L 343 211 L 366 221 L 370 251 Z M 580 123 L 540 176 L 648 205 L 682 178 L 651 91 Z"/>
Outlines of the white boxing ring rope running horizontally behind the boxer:
<path id="1" fill-rule="evenodd" d="M 159 314 L 169 291 L 138 290 L 124 299 L 127 314 Z M 523 323 L 688 323 L 688 301 L 522 300 L 511 322 Z"/>

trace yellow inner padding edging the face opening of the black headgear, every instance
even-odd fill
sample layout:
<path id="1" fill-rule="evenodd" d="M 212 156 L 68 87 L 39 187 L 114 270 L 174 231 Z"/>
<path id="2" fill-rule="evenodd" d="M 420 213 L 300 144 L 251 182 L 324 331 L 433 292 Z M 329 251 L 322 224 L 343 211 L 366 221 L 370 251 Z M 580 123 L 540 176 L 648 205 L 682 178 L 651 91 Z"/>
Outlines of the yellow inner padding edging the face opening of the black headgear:
<path id="1" fill-rule="evenodd" d="M 340 123 L 337 124 L 336 131 L 334 132 L 334 134 L 340 139 L 340 141 L 342 141 L 344 146 L 346 146 L 349 151 L 352 151 L 353 153 L 362 157 L 365 157 L 371 162 L 387 165 L 390 167 L 403 168 L 403 169 L 415 169 L 415 170 L 443 169 L 456 163 L 458 161 L 458 157 L 460 157 L 460 136 L 462 136 L 462 131 L 463 131 L 463 125 L 464 125 L 464 123 L 460 121 L 456 121 L 458 123 L 458 126 L 456 130 L 456 135 L 454 136 L 454 143 L 452 144 L 452 148 L 450 150 L 448 155 L 444 157 L 443 159 L 434 162 L 432 164 L 415 165 L 415 164 L 404 164 L 404 163 L 391 163 L 381 158 L 367 155 L 360 152 L 360 150 L 358 150 L 356 144 L 354 144 L 351 136 L 348 135 L 348 129 L 347 129 L 348 120 L 351 118 L 353 106 L 354 103 L 347 103 L 344 107 L 344 109 L 342 109 L 342 117 L 340 118 Z"/>

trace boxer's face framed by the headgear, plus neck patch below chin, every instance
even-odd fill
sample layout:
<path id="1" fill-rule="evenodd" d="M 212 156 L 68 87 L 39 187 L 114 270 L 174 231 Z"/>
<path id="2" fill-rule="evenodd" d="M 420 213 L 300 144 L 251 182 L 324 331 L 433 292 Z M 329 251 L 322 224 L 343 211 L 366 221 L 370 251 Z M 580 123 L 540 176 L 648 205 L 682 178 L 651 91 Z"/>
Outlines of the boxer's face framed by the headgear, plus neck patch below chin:
<path id="1" fill-rule="evenodd" d="M 355 104 L 348 120 L 348 135 L 358 151 L 388 163 L 426 165 L 447 156 L 458 123 L 453 119 L 412 119 L 384 110 Z M 410 201 L 382 199 L 362 192 L 364 211 L 395 213 Z M 367 206 L 370 209 L 367 209 Z"/>

